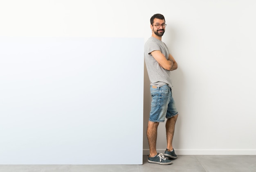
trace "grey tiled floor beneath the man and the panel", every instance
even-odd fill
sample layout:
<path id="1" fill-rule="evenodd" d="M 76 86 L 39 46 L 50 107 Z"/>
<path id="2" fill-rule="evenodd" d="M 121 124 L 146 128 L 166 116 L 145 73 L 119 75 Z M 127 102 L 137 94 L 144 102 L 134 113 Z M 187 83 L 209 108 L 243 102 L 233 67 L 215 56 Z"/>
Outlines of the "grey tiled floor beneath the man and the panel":
<path id="1" fill-rule="evenodd" d="M 145 155 L 143 165 L 0 165 L 0 172 L 256 172 L 256 155 L 180 155 L 171 165 Z"/>

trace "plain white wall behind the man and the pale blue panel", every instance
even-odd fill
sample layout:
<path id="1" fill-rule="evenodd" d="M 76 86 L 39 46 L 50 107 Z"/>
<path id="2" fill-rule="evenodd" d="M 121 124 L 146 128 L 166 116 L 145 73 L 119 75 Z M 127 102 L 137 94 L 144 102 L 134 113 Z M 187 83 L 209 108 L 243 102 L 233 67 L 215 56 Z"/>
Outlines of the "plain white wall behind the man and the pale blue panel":
<path id="1" fill-rule="evenodd" d="M 9 0 L 0 2 L 0 36 L 144 37 L 150 17 L 166 17 L 163 41 L 179 68 L 172 74 L 180 116 L 178 154 L 256 154 L 253 0 Z M 136 62 L 135 62 L 136 63 Z M 144 153 L 150 111 L 144 74 Z M 157 149 L 166 148 L 164 124 Z"/>

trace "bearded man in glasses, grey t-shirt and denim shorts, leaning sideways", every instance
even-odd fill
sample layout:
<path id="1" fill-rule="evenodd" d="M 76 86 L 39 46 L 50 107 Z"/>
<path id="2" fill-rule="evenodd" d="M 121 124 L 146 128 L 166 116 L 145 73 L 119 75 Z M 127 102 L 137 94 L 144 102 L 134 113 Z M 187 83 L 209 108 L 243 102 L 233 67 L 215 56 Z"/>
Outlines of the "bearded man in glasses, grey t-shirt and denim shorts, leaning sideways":
<path id="1" fill-rule="evenodd" d="M 178 112 L 171 92 L 171 71 L 177 69 L 177 63 L 168 52 L 167 46 L 162 42 L 165 32 L 165 19 L 162 14 L 155 14 L 150 18 L 152 36 L 146 41 L 144 58 L 150 80 L 150 93 L 152 96 L 151 111 L 148 121 L 147 137 L 149 144 L 148 162 L 162 165 L 171 164 L 168 158 L 176 159 L 173 149 L 173 135 Z M 159 122 L 166 120 L 167 148 L 157 153 L 157 127 Z M 168 157 L 168 158 L 166 158 Z"/>

